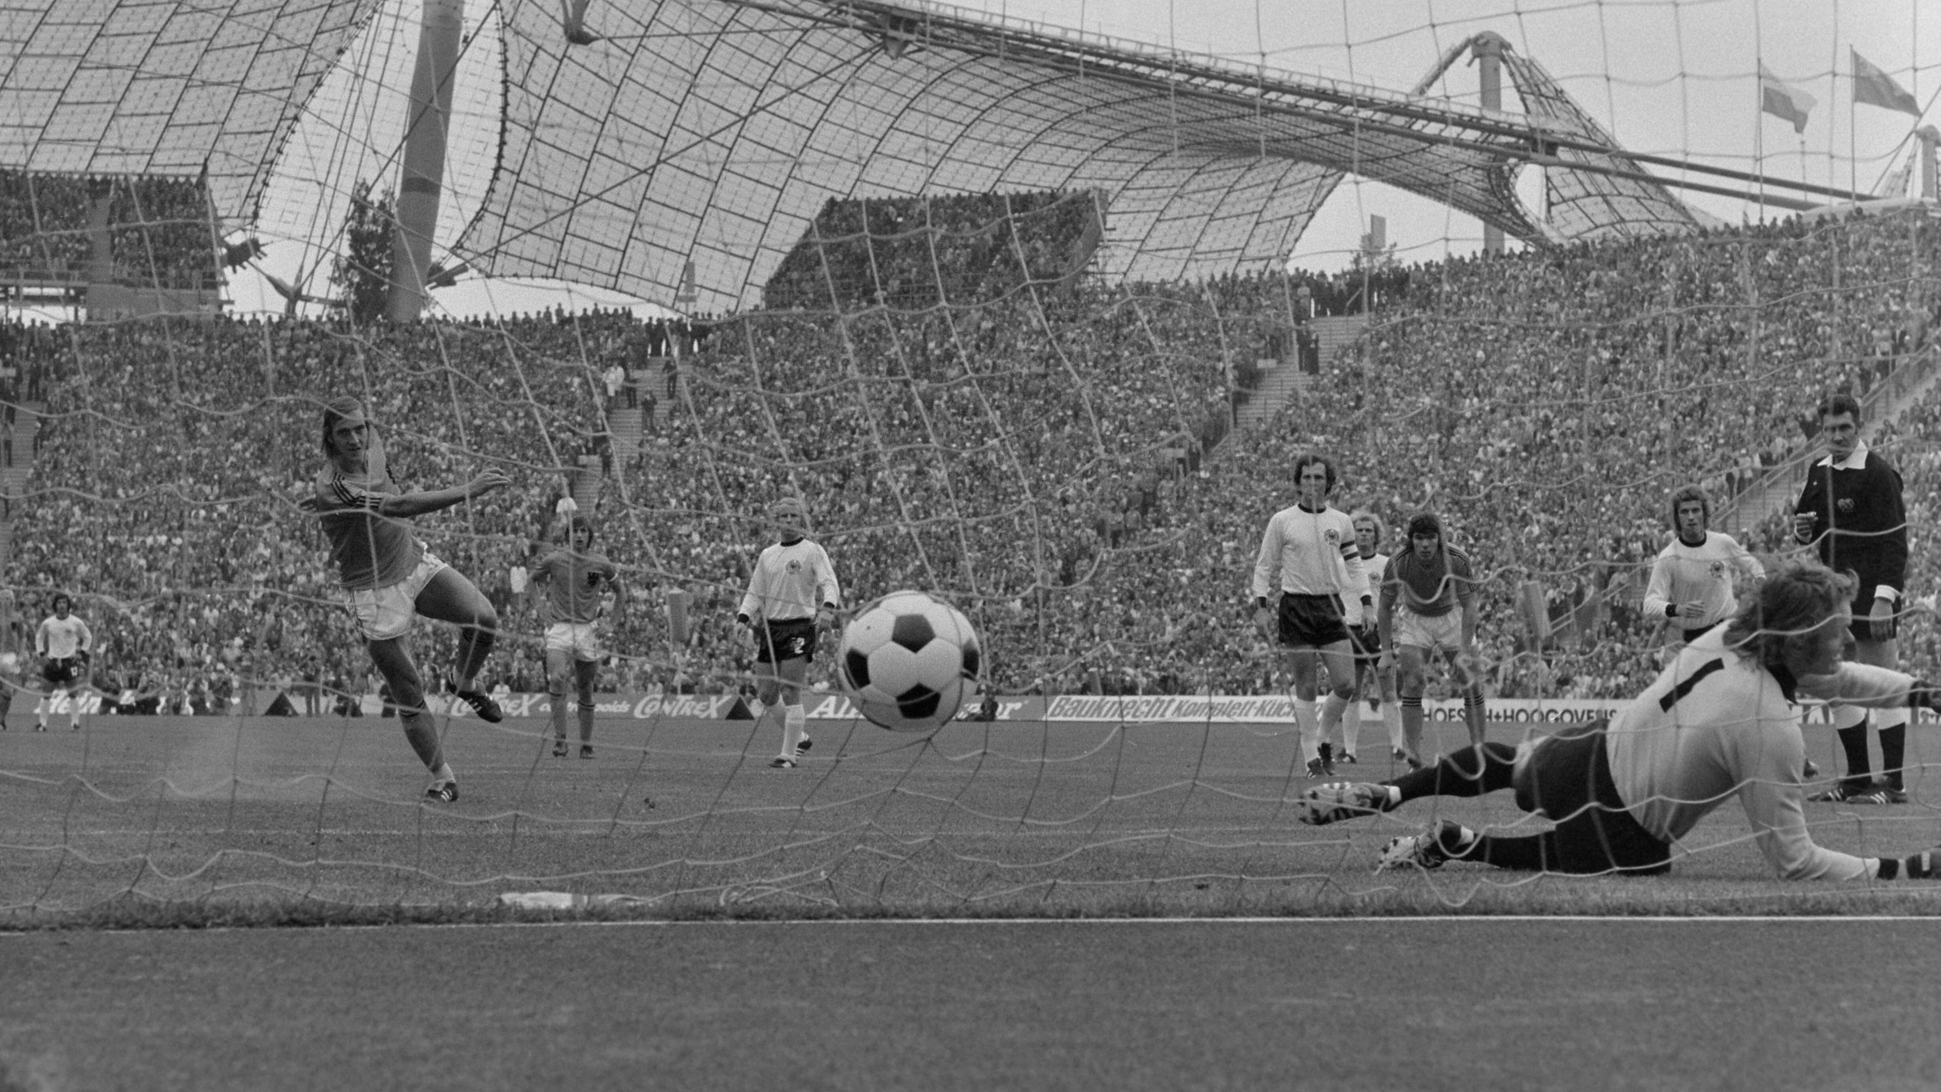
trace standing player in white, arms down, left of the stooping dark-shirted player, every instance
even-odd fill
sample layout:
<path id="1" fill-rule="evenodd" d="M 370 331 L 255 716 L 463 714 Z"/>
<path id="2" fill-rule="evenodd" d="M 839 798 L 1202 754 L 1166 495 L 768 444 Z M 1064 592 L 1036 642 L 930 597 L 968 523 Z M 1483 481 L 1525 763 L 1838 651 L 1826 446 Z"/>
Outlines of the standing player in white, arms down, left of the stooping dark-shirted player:
<path id="1" fill-rule="evenodd" d="M 1264 635 L 1277 635 L 1285 651 L 1308 777 L 1333 773 L 1322 740 L 1339 731 L 1341 715 L 1355 698 L 1355 645 L 1349 643 L 1349 630 L 1361 626 L 1370 610 L 1368 573 L 1355 546 L 1355 521 L 1345 511 L 1328 507 L 1333 486 L 1333 462 L 1314 453 L 1295 459 L 1300 501 L 1273 513 L 1260 540 L 1260 558 L 1254 560 L 1254 624 Z M 1275 591 L 1281 593 L 1279 610 L 1267 606 L 1267 597 Z M 1328 700 L 1316 725 L 1314 698 L 1320 692 L 1322 665 L 1328 665 Z"/>

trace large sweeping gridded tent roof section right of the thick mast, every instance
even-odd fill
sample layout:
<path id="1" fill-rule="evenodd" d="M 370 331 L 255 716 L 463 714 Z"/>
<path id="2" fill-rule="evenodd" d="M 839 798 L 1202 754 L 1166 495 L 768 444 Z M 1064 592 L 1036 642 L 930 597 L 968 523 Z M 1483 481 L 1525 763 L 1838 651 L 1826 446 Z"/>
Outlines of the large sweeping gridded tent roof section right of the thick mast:
<path id="1" fill-rule="evenodd" d="M 679 0 L 594 6 L 569 45 L 551 0 L 505 0 L 501 171 L 456 251 L 703 311 L 759 290 L 827 198 L 1097 188 L 1106 276 L 1172 280 L 1285 260 L 1343 173 L 1530 241 L 1693 227 L 1535 64 L 1533 117 L 1186 58 L 943 6 Z M 1522 60 L 1522 58 L 1518 58 Z M 1516 196 L 1537 142 L 1549 222 Z M 1557 152 L 1563 155 L 1564 152 Z M 1634 171 L 1634 167 L 1630 167 Z"/>

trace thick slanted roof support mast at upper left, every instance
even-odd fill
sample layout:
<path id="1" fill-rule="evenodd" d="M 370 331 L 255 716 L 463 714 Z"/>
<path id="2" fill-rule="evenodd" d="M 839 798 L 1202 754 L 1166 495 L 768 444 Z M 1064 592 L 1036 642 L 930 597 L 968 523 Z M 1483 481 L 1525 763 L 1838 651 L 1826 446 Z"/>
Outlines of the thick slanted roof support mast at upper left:
<path id="1" fill-rule="evenodd" d="M 444 185 L 444 138 L 452 120 L 452 80 L 466 29 L 464 0 L 425 0 L 417 27 L 417 70 L 411 74 L 411 126 L 404 134 L 398 177 L 398 231 L 392 239 L 392 323 L 415 323 L 425 311 L 431 237 L 439 229 L 439 190 Z"/>

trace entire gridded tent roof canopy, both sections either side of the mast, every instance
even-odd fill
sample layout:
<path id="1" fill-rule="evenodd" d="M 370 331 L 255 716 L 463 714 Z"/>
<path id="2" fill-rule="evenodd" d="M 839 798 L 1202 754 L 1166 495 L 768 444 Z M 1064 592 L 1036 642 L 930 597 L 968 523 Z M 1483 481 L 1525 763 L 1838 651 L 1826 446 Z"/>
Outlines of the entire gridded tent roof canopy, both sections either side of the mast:
<path id="1" fill-rule="evenodd" d="M 225 216 L 380 0 L 0 0 L 0 165 L 186 173 Z M 580 6 L 567 2 L 567 10 Z M 1526 115 L 1186 56 L 936 4 L 501 0 L 505 117 L 477 272 L 693 307 L 759 303 L 829 198 L 1101 190 L 1106 276 L 1285 260 L 1343 173 L 1533 241 L 1685 231 L 1543 68 L 1504 54 Z M 1516 167 L 1549 165 L 1547 216 Z"/>

